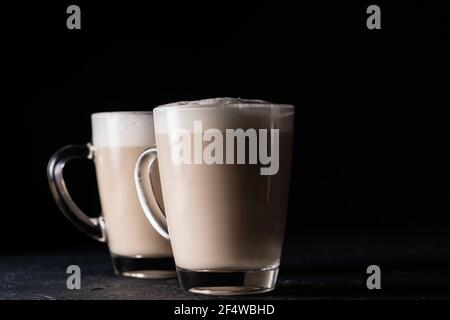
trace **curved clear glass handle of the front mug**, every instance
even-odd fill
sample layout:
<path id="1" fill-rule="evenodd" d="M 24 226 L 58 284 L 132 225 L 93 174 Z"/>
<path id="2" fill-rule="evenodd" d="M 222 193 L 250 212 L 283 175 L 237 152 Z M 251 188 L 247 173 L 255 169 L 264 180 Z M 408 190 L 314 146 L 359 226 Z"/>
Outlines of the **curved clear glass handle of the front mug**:
<path id="1" fill-rule="evenodd" d="M 144 210 L 145 216 L 152 224 L 153 228 L 164 238 L 169 240 L 169 230 L 167 228 L 166 216 L 156 200 L 155 192 L 153 190 L 151 175 L 154 170 L 153 165 L 158 159 L 158 152 L 156 146 L 142 151 L 139 159 L 136 162 L 134 170 L 134 182 L 136 184 L 136 191 L 139 202 Z M 147 171 L 144 169 L 147 168 Z M 145 172 L 148 174 L 145 175 Z M 148 188 L 148 197 L 145 192 L 145 186 Z"/>

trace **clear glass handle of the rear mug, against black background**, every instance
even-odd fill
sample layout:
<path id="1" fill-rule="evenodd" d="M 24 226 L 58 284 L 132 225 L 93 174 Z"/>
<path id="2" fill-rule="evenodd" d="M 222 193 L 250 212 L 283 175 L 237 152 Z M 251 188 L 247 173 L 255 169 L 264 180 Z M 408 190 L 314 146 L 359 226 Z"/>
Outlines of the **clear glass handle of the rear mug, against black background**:
<path id="1" fill-rule="evenodd" d="M 67 219 L 88 236 L 106 242 L 105 222 L 102 216 L 90 218 L 72 200 L 64 182 L 63 169 L 73 159 L 94 159 L 94 147 L 87 145 L 69 145 L 57 151 L 48 162 L 47 176 L 50 190 L 56 204 Z"/>

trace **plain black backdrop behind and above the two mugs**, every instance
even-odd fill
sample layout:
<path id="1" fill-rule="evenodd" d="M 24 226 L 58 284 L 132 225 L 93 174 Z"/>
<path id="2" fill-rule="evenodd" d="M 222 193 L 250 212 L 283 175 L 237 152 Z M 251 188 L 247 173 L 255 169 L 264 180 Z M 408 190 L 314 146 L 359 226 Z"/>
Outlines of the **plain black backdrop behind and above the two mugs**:
<path id="1" fill-rule="evenodd" d="M 393 2 L 39 3 L 23 50 L 31 196 L 0 225 L 0 251 L 102 246 L 63 217 L 46 180 L 56 150 L 90 141 L 91 113 L 219 96 L 296 105 L 287 246 L 448 249 L 449 4 Z M 70 4 L 81 30 L 66 28 Z M 370 4 L 381 30 L 366 28 Z M 93 165 L 71 163 L 66 181 L 97 215 Z"/>

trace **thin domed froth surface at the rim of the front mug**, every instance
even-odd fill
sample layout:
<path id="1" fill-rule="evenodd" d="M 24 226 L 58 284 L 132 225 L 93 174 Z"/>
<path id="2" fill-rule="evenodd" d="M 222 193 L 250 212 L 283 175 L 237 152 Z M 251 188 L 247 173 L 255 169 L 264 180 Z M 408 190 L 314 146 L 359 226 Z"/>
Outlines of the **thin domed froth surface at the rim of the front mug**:
<path id="1" fill-rule="evenodd" d="M 239 107 L 239 108 L 249 108 L 249 107 L 277 107 L 277 108 L 294 108 L 293 105 L 289 104 L 277 104 L 264 100 L 257 99 L 241 99 L 241 98 L 212 98 L 212 99 L 202 99 L 194 101 L 179 101 L 161 105 L 155 108 L 154 112 L 167 110 L 168 108 L 176 109 L 192 109 L 192 108 L 205 108 L 205 107 Z"/>

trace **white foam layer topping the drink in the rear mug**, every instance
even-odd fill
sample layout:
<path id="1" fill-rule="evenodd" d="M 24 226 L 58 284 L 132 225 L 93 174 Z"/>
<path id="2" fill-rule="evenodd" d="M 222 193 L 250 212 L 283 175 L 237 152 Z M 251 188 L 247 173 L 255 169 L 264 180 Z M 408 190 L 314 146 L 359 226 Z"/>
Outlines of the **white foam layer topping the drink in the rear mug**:
<path id="1" fill-rule="evenodd" d="M 151 112 L 94 113 L 92 143 L 102 147 L 146 147 L 155 144 Z"/>

